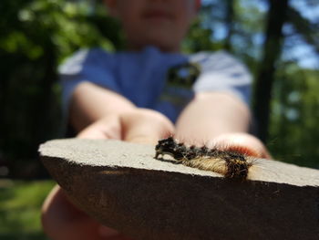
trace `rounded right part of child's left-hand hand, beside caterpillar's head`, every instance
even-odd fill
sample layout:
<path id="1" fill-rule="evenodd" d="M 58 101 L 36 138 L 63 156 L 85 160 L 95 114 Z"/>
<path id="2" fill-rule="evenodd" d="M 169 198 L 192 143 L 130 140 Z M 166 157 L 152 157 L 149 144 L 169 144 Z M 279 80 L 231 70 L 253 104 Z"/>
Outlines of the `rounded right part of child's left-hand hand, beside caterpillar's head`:
<path id="1" fill-rule="evenodd" d="M 122 115 L 120 121 L 124 141 L 156 144 L 174 130 L 170 120 L 154 110 L 132 111 Z"/>

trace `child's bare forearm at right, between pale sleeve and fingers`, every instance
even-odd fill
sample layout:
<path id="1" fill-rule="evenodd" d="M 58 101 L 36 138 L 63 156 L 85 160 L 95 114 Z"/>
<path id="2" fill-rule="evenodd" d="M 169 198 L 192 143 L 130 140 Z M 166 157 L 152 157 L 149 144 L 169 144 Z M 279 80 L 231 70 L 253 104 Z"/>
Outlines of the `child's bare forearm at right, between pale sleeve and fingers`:
<path id="1" fill-rule="evenodd" d="M 210 141 L 224 133 L 248 130 L 251 113 L 240 100 L 227 93 L 200 93 L 180 114 L 177 138 Z"/>

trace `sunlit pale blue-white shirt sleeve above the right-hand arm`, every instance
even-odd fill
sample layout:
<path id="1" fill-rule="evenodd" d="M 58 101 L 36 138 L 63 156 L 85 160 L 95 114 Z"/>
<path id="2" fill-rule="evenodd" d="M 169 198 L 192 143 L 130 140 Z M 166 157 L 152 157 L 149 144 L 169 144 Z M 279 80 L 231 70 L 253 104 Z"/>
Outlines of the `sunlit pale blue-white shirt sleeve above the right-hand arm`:
<path id="1" fill-rule="evenodd" d="M 227 92 L 250 104 L 252 76 L 245 66 L 230 54 L 202 52 L 190 58 L 200 65 L 201 74 L 193 89 L 195 92 Z"/>

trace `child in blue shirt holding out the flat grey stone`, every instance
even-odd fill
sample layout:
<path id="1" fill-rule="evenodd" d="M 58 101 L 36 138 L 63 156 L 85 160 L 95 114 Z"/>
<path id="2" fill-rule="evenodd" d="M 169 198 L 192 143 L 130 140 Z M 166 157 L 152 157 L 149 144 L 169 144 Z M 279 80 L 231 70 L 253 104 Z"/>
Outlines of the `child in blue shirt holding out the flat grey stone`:
<path id="1" fill-rule="evenodd" d="M 180 54 L 199 0 L 105 2 L 122 23 L 129 51 L 80 51 L 61 68 L 65 110 L 79 138 L 156 144 L 174 134 L 269 156 L 245 133 L 251 78 L 242 64 L 224 52 Z M 42 219 L 52 239 L 128 239 L 78 210 L 58 187 Z"/>

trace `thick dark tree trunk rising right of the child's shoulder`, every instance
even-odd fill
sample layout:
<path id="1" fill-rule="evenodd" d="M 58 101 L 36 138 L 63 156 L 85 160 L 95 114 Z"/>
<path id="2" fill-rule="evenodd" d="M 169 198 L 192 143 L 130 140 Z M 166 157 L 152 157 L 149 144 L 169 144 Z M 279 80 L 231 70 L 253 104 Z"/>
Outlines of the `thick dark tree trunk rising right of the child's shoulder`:
<path id="1" fill-rule="evenodd" d="M 253 112 L 258 126 L 258 137 L 267 140 L 270 119 L 270 102 L 276 62 L 281 56 L 283 24 L 287 19 L 289 0 L 268 0 L 268 22 L 266 39 L 263 45 L 263 57 L 257 73 L 253 92 Z"/>

